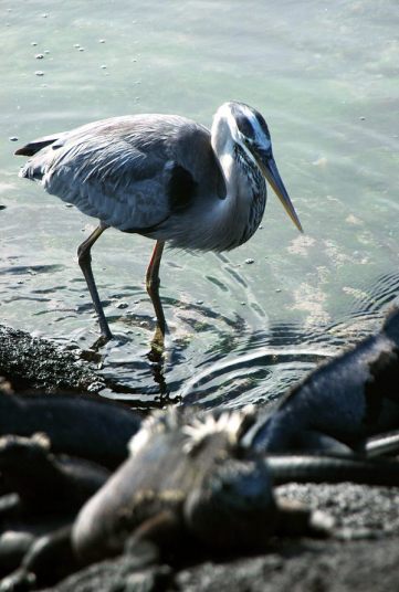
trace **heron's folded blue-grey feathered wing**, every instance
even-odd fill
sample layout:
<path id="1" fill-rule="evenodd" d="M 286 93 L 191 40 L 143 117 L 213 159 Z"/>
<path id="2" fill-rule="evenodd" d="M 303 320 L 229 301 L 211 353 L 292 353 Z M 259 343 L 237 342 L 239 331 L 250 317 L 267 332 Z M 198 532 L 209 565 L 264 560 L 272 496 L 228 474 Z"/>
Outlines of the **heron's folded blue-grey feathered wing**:
<path id="1" fill-rule="evenodd" d="M 105 224 L 150 229 L 170 214 L 170 182 L 176 170 L 181 175 L 175 148 L 188 121 L 175 116 L 117 117 L 49 136 L 28 145 L 30 154 L 40 148 L 21 175 L 41 180 L 49 193 Z"/>

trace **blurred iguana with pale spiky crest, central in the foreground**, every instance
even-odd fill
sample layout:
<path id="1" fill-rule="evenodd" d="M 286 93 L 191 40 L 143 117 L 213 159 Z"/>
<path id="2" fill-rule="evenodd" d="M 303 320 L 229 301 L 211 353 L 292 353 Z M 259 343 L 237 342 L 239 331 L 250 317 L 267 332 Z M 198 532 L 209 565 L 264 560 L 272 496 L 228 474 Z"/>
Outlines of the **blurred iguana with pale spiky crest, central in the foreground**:
<path id="1" fill-rule="evenodd" d="M 241 441 L 253 421 L 253 410 L 197 417 L 192 410 L 155 412 L 133 437 L 129 458 L 85 503 L 73 525 L 73 517 L 70 522 L 65 520 L 69 514 L 62 508 L 65 496 L 61 496 L 57 516 L 63 517 L 63 528 L 49 529 L 31 541 L 28 552 L 27 541 L 20 542 L 23 552 L 20 550 L 19 559 L 24 554 L 21 568 L 1 582 L 0 590 L 52 584 L 140 540 L 153 541 L 164 553 L 178 550 L 181 556 L 190 547 L 211 553 L 260 550 L 277 533 L 325 535 L 330 527 L 325 517 L 275 497 L 273 485 L 280 483 L 348 478 L 399 483 L 396 461 L 251 455 Z M 22 441 L 18 440 L 20 446 Z M 34 438 L 32 444 L 36 445 Z M 41 463 L 49 465 L 49 458 Z M 46 487 L 51 495 L 53 479 L 65 483 L 65 471 L 60 477 L 60 466 L 54 472 L 54 464 L 57 458 L 50 458 L 50 471 L 43 472 L 46 477 L 39 491 Z M 11 476 L 14 474 L 19 490 L 18 471 L 11 467 Z M 65 488 L 77 485 L 82 489 L 76 475 L 70 472 L 70 476 L 73 478 Z M 22 478 L 22 490 L 29 490 L 28 477 Z M 49 518 L 45 507 L 42 504 L 42 519 Z M 15 543 L 12 551 L 15 554 Z"/>

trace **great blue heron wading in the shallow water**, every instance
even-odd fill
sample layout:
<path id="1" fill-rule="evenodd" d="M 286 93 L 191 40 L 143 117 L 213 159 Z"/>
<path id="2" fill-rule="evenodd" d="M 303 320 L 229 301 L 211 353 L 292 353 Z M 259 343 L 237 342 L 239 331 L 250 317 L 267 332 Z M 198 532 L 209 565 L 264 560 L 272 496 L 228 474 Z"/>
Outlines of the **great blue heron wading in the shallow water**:
<path id="1" fill-rule="evenodd" d="M 112 334 L 91 265 L 105 229 L 156 240 L 146 285 L 158 328 L 167 328 L 159 299 L 165 241 L 171 246 L 225 251 L 256 231 L 266 203 L 265 179 L 302 231 L 276 168 L 267 125 L 243 103 L 224 103 L 212 129 L 177 115 L 114 117 L 29 142 L 15 155 L 34 156 L 20 176 L 73 203 L 99 225 L 78 250 L 78 263 L 98 316 Z"/>

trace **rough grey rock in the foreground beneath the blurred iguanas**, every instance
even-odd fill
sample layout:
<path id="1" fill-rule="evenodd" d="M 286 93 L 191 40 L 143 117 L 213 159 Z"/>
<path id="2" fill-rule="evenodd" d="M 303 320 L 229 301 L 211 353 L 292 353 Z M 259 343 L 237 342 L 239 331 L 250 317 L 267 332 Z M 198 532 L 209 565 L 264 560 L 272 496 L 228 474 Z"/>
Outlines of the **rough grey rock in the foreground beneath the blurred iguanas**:
<path id="1" fill-rule="evenodd" d="M 250 557 L 200 559 L 170 565 L 123 556 L 82 570 L 54 592 L 392 592 L 399 580 L 399 488 L 290 485 L 280 493 L 334 515 L 337 533 L 325 540 L 280 538 Z"/>

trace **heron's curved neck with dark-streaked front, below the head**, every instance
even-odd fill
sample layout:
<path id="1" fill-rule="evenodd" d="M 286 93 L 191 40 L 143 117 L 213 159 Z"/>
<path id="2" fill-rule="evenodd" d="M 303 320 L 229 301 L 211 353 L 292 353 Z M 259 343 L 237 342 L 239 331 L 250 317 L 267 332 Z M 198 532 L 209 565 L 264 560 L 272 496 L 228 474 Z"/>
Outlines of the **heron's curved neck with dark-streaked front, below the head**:
<path id="1" fill-rule="evenodd" d="M 258 167 L 230 134 L 224 144 L 212 142 L 212 147 L 227 187 L 227 197 L 218 203 L 216 216 L 219 235 L 224 239 L 222 251 L 246 242 L 256 231 L 266 203 L 266 187 Z"/>

